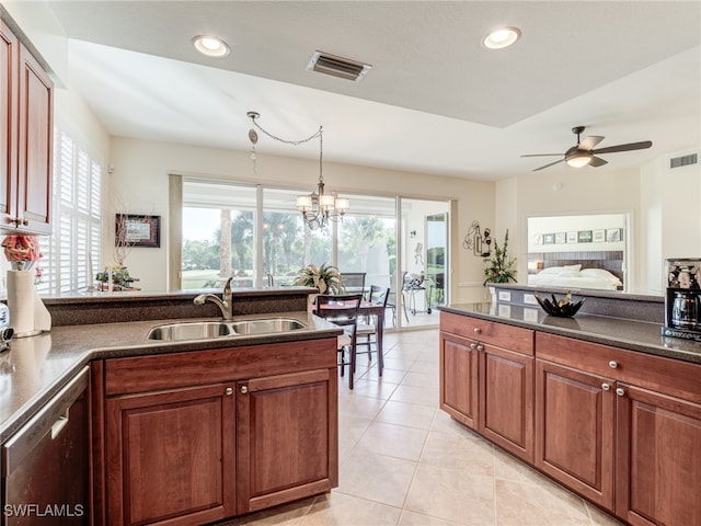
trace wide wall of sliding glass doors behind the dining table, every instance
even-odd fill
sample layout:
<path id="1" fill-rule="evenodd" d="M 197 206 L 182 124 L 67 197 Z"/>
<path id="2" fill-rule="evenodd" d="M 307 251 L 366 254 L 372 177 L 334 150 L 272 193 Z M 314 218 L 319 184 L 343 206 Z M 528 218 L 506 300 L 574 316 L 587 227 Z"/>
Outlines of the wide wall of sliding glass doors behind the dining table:
<path id="1" fill-rule="evenodd" d="M 301 190 L 185 178 L 181 288 L 292 285 L 307 264 L 364 273 L 390 288 L 388 327 L 438 323 L 448 297 L 449 203 L 344 195 L 342 221 L 311 230 L 296 208 Z"/>

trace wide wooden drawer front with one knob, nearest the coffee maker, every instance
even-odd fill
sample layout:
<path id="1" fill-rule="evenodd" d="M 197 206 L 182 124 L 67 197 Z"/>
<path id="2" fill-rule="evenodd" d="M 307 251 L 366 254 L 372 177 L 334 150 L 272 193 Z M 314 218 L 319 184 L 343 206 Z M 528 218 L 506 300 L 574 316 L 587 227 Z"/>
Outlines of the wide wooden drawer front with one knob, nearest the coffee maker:
<path id="1" fill-rule="evenodd" d="M 701 365 L 538 332 L 536 356 L 701 402 Z"/>

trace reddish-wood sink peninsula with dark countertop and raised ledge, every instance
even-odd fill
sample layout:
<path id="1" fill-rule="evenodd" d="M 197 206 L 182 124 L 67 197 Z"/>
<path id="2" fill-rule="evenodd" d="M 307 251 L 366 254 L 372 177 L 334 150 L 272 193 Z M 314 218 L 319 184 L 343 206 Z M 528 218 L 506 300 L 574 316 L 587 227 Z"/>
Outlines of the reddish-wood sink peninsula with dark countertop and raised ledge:
<path id="1" fill-rule="evenodd" d="M 306 310 L 309 291 L 234 291 L 232 321 L 286 318 L 303 329 L 175 342 L 147 334 L 218 311 L 193 306 L 192 293 L 48 300 L 62 309 L 58 320 L 82 312 L 113 322 L 59 324 L 11 342 L 2 441 L 89 365 L 94 483 L 85 507 L 95 524 L 202 524 L 327 492 L 337 484 L 341 329 Z"/>

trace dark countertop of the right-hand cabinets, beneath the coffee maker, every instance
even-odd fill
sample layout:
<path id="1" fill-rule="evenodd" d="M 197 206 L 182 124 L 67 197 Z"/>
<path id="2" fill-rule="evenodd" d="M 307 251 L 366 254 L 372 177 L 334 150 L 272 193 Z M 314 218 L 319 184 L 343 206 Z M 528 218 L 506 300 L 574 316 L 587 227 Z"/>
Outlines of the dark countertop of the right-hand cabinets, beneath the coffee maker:
<path id="1" fill-rule="evenodd" d="M 502 304 L 441 305 L 439 310 L 701 364 L 701 342 L 662 335 L 662 324 L 578 313 L 556 318 L 540 308 Z"/>

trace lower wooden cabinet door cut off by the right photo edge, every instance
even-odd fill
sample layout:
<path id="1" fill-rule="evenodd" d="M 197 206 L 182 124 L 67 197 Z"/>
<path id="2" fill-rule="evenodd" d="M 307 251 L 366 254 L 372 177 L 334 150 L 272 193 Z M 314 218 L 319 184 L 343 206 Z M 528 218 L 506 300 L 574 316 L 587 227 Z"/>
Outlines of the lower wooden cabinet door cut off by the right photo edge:
<path id="1" fill-rule="evenodd" d="M 701 405 L 620 384 L 617 515 L 632 525 L 701 525 Z"/>

